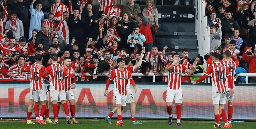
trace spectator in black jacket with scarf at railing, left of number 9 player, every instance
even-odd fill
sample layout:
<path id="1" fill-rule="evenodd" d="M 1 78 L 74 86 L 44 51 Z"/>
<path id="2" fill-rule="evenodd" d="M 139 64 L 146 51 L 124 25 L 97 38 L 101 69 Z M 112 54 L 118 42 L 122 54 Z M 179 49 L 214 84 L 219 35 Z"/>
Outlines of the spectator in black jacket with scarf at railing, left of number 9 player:
<path id="1" fill-rule="evenodd" d="M 100 60 L 97 54 L 93 55 L 92 60 L 89 62 L 90 64 L 97 64 L 97 67 L 92 69 L 88 69 L 88 73 L 93 76 L 91 79 L 94 81 L 104 81 L 105 77 L 99 77 L 98 74 L 105 75 L 106 72 L 109 71 L 110 65 L 108 62 L 104 60 Z"/>

